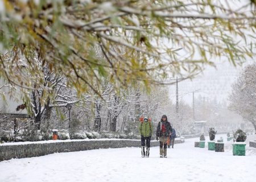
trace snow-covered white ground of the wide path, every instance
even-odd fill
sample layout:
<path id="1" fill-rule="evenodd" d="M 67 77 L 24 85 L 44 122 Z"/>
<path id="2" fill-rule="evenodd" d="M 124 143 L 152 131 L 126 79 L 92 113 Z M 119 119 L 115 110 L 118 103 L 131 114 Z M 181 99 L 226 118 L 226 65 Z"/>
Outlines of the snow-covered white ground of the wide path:
<path id="1" fill-rule="evenodd" d="M 216 139 L 221 136 L 226 139 Z M 225 140 L 225 152 L 214 152 L 195 148 L 195 140 L 168 149 L 168 158 L 159 158 L 159 147 L 151 148 L 150 158 L 141 158 L 134 147 L 11 159 L 0 162 L 0 181 L 255 181 L 254 148 L 233 156 L 232 142 Z"/>

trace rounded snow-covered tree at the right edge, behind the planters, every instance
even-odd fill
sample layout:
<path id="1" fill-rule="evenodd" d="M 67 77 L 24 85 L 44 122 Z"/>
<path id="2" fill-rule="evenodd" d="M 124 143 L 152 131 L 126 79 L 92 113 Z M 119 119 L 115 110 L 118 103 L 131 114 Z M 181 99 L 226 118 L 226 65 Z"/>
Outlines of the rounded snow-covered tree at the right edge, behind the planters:
<path id="1" fill-rule="evenodd" d="M 253 124 L 256 131 L 256 64 L 248 65 L 232 86 L 229 108 Z"/>

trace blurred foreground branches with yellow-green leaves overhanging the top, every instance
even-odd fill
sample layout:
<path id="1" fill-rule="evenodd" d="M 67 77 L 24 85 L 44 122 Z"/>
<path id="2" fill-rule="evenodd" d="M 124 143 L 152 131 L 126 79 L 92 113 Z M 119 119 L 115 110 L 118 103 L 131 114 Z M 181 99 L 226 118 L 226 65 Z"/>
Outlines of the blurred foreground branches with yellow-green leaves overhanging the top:
<path id="1" fill-rule="evenodd" d="M 216 56 L 236 65 L 255 55 L 254 4 L 1 1 L 0 76 L 23 89 L 49 90 L 47 65 L 78 93 L 100 94 L 105 78 L 116 90 L 138 82 L 149 87 L 171 75 L 193 77 Z"/>

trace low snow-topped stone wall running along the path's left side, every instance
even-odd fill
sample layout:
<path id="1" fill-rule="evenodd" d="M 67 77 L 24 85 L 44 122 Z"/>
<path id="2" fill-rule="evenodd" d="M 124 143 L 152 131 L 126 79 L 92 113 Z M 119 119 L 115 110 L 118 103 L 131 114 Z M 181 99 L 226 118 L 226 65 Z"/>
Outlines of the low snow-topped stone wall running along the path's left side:
<path id="1" fill-rule="evenodd" d="M 177 139 L 175 143 L 183 143 L 184 140 Z M 159 146 L 156 140 L 151 141 L 151 147 Z M 122 148 L 122 147 L 140 147 L 141 140 L 80 140 L 80 141 L 65 141 L 46 142 L 46 143 L 31 143 L 31 144 L 0 144 L 0 161 L 9 160 L 12 158 L 31 158 L 53 154 L 55 152 L 74 152 L 93 150 L 98 148 Z"/>

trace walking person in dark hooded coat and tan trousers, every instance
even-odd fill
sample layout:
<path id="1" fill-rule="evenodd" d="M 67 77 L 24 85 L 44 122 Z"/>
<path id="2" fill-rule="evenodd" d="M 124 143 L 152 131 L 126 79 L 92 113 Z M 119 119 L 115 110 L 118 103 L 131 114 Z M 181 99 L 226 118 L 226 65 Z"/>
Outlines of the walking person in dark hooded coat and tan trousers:
<path id="1" fill-rule="evenodd" d="M 167 158 L 167 139 L 170 137 L 172 127 L 167 121 L 167 116 L 163 115 L 156 129 L 156 140 L 160 142 L 160 158 Z"/>

